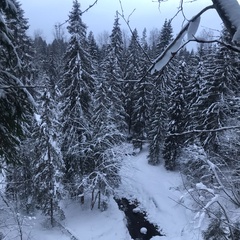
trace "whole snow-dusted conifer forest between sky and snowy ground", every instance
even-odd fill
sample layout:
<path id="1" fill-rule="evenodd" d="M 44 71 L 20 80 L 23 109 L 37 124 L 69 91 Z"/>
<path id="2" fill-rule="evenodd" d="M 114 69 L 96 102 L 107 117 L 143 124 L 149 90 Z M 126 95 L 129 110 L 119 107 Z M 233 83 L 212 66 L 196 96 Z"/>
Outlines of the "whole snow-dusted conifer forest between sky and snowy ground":
<path id="1" fill-rule="evenodd" d="M 96 40 L 74 0 L 69 37 L 56 28 L 47 43 L 28 36 L 19 0 L 0 0 L 0 239 L 12 239 L 1 212 L 16 214 L 22 240 L 18 214 L 55 227 L 66 200 L 106 211 L 123 159 L 144 149 L 148 165 L 181 174 L 208 216 L 202 239 L 240 239 L 240 48 L 223 27 L 150 71 L 171 20 L 125 34 L 120 18 Z"/>

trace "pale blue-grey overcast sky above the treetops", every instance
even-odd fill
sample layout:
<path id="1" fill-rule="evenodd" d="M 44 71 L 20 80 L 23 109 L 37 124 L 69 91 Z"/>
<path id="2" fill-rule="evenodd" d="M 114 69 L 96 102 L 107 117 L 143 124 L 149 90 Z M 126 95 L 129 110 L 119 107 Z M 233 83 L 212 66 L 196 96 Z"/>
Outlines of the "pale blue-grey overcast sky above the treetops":
<path id="1" fill-rule="evenodd" d="M 25 11 L 25 17 L 29 19 L 29 34 L 41 30 L 43 37 L 49 42 L 53 39 L 54 25 L 67 20 L 72 9 L 72 0 L 20 0 Z M 84 11 L 94 0 L 80 0 L 81 10 Z M 164 20 L 170 19 L 177 12 L 179 0 L 168 0 L 162 2 L 159 9 L 157 1 L 154 0 L 121 0 L 124 15 L 130 17 L 130 25 L 137 28 L 139 35 L 144 27 L 148 32 L 153 28 L 161 29 Z M 191 18 L 203 7 L 211 5 L 211 0 L 197 0 L 192 2 L 186 0 L 184 11 L 187 18 Z M 111 32 L 116 11 L 121 11 L 119 0 L 98 0 L 98 3 L 86 12 L 82 19 L 88 26 L 88 30 L 98 34 L 104 30 Z M 182 18 L 174 19 L 173 28 L 178 31 L 182 25 Z M 210 10 L 202 16 L 200 32 L 203 28 L 220 29 L 221 20 L 214 10 Z M 121 21 L 121 27 L 127 29 L 126 24 Z"/>

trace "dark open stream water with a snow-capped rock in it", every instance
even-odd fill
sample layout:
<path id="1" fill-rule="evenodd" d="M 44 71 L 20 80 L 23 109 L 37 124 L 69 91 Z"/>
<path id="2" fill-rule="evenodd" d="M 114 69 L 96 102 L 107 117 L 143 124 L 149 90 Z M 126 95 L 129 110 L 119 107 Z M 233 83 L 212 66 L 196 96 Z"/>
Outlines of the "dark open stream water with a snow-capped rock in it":
<path id="1" fill-rule="evenodd" d="M 115 201 L 119 209 L 125 213 L 127 228 L 134 240 L 149 240 L 154 236 L 164 236 L 158 231 L 157 226 L 146 219 L 145 212 L 136 211 L 139 205 L 137 201 L 130 202 L 126 198 L 115 198 Z"/>

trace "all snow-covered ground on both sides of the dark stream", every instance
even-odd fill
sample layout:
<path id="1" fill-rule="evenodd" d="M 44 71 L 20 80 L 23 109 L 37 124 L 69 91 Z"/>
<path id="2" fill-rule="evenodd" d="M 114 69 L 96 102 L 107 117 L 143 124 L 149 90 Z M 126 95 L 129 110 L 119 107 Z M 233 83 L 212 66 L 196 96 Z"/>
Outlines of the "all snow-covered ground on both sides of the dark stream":
<path id="1" fill-rule="evenodd" d="M 200 230 L 194 229 L 193 214 L 177 203 L 184 192 L 180 174 L 168 172 L 163 166 L 148 165 L 147 149 L 144 149 L 135 156 L 126 156 L 121 175 L 122 185 L 118 195 L 138 199 L 140 208 L 148 213 L 148 219 L 166 235 L 153 237 L 152 240 L 202 239 Z M 124 213 L 113 199 L 105 212 L 68 202 L 65 203 L 65 214 L 62 224 L 79 240 L 131 240 Z M 70 235 L 60 228 L 43 226 L 43 216 L 25 218 L 23 226 L 26 239 L 70 239 Z"/>

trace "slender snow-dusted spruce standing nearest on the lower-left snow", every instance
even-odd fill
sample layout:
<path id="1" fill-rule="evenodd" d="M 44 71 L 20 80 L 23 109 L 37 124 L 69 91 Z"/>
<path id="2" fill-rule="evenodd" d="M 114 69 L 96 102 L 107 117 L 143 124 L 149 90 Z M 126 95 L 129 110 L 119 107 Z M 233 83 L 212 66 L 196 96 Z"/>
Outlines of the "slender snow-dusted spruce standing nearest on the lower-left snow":
<path id="1" fill-rule="evenodd" d="M 47 89 L 41 97 L 41 103 L 41 118 L 34 132 L 35 140 L 38 142 L 34 151 L 34 198 L 36 207 L 49 216 L 53 227 L 56 215 L 63 216 L 59 201 L 62 197 L 64 163 L 56 139 L 55 105 Z"/>

